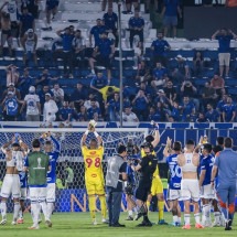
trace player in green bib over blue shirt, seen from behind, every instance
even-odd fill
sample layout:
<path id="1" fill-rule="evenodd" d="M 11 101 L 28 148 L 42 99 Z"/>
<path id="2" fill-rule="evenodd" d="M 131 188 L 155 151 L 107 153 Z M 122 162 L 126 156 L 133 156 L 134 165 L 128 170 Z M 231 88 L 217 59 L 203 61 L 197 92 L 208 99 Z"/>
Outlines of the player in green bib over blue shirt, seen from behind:
<path id="1" fill-rule="evenodd" d="M 24 164 L 24 170 L 29 172 L 29 190 L 33 218 L 33 225 L 29 229 L 39 229 L 41 208 L 44 209 L 43 213 L 46 213 L 46 177 L 51 166 L 49 155 L 41 152 L 41 142 L 39 139 L 32 141 L 32 147 L 33 151 L 28 154 Z"/>

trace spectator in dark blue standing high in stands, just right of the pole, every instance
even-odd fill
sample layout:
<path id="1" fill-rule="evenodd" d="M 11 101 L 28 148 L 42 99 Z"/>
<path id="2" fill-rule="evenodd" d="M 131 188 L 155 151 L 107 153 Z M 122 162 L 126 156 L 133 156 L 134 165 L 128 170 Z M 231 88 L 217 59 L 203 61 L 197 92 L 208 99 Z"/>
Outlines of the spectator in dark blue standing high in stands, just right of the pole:
<path id="1" fill-rule="evenodd" d="M 130 47 L 133 47 L 133 37 L 134 35 L 138 35 L 141 42 L 141 47 L 143 49 L 143 28 L 144 28 L 144 19 L 139 15 L 139 10 L 134 11 L 134 17 L 131 17 L 129 19 L 129 30 L 130 30 Z"/>

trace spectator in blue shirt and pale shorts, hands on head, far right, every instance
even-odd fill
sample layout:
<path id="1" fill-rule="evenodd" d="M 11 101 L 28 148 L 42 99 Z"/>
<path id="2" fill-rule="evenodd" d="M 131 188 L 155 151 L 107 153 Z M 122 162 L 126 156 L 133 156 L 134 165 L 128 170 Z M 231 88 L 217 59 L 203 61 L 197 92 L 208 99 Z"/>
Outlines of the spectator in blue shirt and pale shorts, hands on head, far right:
<path id="1" fill-rule="evenodd" d="M 213 40 L 218 40 L 219 49 L 218 49 L 218 57 L 219 57 L 219 76 L 223 77 L 224 67 L 226 67 L 226 77 L 228 77 L 229 73 L 229 62 L 230 62 L 230 41 L 233 39 L 237 39 L 237 35 L 227 29 L 217 30 L 213 36 Z"/>

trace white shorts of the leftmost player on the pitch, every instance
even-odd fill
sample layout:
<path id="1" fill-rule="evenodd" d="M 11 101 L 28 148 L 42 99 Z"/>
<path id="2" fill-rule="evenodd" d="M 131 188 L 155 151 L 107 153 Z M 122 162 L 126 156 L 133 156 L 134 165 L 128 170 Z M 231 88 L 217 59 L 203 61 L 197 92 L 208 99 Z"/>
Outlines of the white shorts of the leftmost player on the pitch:
<path id="1" fill-rule="evenodd" d="M 18 174 L 6 174 L 1 187 L 1 197 L 20 198 L 20 179 Z"/>

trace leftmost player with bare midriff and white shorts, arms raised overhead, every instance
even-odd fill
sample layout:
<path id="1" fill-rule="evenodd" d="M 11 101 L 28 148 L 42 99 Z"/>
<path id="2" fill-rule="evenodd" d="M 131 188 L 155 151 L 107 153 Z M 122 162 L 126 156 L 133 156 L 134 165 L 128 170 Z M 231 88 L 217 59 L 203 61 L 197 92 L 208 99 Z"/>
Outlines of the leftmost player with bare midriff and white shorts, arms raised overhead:
<path id="1" fill-rule="evenodd" d="M 11 146 L 11 147 L 10 147 Z M 7 224 L 7 200 L 10 195 L 13 197 L 14 211 L 12 225 L 17 225 L 20 211 L 20 180 L 19 171 L 23 169 L 24 153 L 20 149 L 25 149 L 25 144 L 19 136 L 12 138 L 11 141 L 2 146 L 1 150 L 6 154 L 7 172 L 1 187 L 1 216 L 0 225 Z"/>

